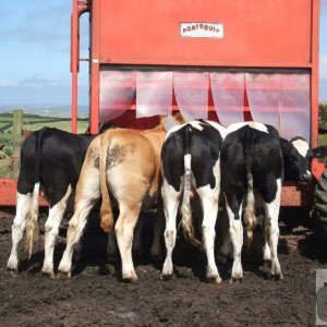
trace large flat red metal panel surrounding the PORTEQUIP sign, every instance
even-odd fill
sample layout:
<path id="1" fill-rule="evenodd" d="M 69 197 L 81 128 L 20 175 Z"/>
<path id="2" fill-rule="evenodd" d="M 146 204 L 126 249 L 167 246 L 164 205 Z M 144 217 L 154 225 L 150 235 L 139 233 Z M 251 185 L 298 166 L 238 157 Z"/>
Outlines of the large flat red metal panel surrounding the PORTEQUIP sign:
<path id="1" fill-rule="evenodd" d="M 100 1 L 99 59 L 104 63 L 310 66 L 313 1 Z M 182 22 L 222 23 L 223 37 L 182 38 Z"/>

